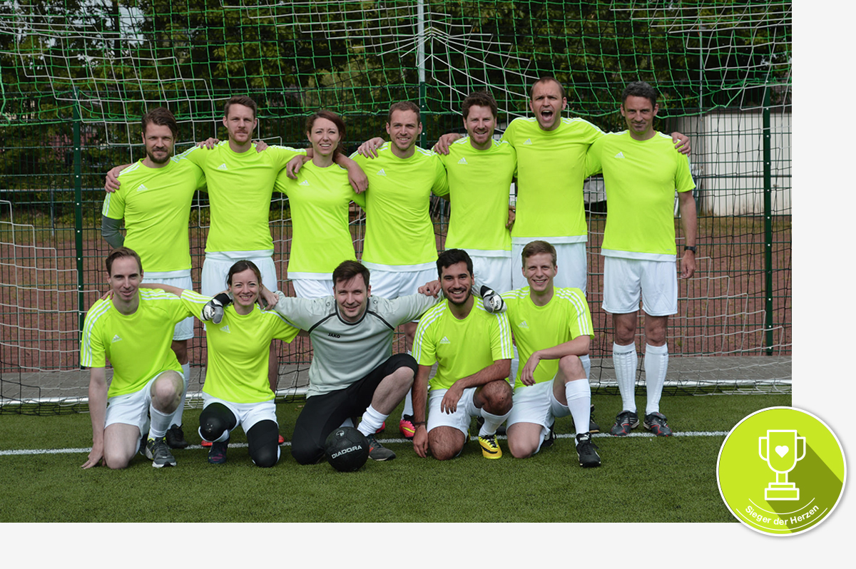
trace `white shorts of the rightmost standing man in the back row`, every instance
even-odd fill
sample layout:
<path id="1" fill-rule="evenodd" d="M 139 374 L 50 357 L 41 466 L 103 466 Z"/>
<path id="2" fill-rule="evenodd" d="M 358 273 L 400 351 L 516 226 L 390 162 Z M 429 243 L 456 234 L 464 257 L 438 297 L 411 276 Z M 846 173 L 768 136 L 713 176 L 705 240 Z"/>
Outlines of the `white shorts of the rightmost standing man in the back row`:
<path id="1" fill-rule="evenodd" d="M 603 258 L 603 310 L 629 314 L 642 310 L 649 316 L 678 313 L 678 271 L 675 263 L 643 259 Z"/>

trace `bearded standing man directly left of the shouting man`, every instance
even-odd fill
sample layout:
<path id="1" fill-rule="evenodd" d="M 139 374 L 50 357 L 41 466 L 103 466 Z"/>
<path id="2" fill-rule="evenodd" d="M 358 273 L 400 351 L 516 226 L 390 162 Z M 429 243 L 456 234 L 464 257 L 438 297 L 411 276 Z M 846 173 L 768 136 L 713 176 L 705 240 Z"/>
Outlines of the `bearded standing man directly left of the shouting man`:
<path id="1" fill-rule="evenodd" d="M 477 290 L 511 290 L 511 234 L 508 195 L 517 168 L 514 147 L 493 139 L 496 101 L 474 92 L 461 105 L 467 136 L 440 157 L 449 178 L 447 249 L 463 249 L 473 259 Z"/>

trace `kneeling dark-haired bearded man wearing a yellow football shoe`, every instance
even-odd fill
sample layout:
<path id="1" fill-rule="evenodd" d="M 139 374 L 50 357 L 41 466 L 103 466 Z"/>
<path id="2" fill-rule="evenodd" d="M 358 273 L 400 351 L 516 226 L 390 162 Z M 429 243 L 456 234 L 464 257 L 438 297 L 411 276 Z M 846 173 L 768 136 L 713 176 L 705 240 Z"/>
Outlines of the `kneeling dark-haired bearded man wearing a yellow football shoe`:
<path id="1" fill-rule="evenodd" d="M 502 458 L 496 430 L 511 411 L 508 385 L 513 356 L 511 329 L 505 313 L 490 314 L 473 297 L 473 261 L 466 251 L 448 249 L 437 258 L 446 300 L 419 320 L 413 357 L 419 371 L 413 382 L 413 450 L 425 458 L 453 459 L 467 442 L 470 420 L 484 418 L 479 445 L 487 459 Z M 425 427 L 425 394 L 431 366 Z"/>

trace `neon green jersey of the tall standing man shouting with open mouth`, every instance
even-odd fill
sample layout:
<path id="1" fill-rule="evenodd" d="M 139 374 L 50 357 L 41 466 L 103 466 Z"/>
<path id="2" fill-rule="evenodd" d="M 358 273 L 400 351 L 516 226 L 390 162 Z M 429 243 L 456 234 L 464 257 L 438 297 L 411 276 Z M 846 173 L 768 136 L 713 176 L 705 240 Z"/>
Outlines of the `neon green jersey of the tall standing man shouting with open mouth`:
<path id="1" fill-rule="evenodd" d="M 516 118 L 502 140 L 517 151 L 517 212 L 514 238 L 550 243 L 586 241 L 586 152 L 603 131 L 580 118 L 563 118 L 542 130 L 534 118 Z"/>

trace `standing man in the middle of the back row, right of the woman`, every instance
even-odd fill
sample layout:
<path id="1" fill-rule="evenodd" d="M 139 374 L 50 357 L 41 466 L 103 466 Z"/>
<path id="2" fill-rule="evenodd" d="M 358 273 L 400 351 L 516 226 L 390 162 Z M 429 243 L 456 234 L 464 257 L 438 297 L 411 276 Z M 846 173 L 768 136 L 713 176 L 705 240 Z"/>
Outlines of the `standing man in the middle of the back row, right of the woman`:
<path id="1" fill-rule="evenodd" d="M 439 157 L 416 145 L 422 133 L 419 106 L 401 101 L 389 107 L 389 142 L 372 139 L 351 158 L 366 172 L 369 189 L 354 198 L 366 210 L 362 262 L 372 271 L 372 290 L 385 299 L 416 293 L 437 274 L 437 240 L 431 222 L 431 193 L 449 193 Z M 410 353 L 417 323 L 401 324 Z M 401 434 L 413 438 L 413 401 L 404 402 Z"/>

